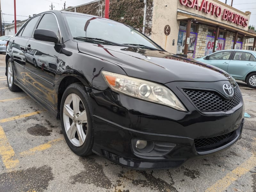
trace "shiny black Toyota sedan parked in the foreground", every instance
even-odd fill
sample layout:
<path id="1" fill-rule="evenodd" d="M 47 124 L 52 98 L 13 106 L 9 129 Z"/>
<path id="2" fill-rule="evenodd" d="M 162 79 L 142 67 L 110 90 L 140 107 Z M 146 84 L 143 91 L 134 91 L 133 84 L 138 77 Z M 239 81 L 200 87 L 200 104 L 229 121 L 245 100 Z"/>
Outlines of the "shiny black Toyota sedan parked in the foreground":
<path id="1" fill-rule="evenodd" d="M 26 59 L 31 50 L 55 69 Z M 243 129 L 243 98 L 228 73 L 92 15 L 29 19 L 9 41 L 6 75 L 11 91 L 22 89 L 60 119 L 74 153 L 126 167 L 177 167 L 230 147 Z"/>

